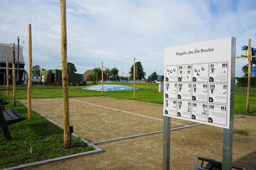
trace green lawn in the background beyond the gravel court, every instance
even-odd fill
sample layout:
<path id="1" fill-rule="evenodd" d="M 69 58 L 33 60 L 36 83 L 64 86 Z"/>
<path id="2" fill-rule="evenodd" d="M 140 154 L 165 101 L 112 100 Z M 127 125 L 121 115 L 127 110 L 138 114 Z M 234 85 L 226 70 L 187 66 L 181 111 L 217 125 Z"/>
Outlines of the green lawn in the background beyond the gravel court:
<path id="1" fill-rule="evenodd" d="M 115 83 L 118 85 L 127 85 L 133 87 L 133 83 Z M 92 85 L 89 82 L 86 87 Z M 84 86 L 83 86 L 84 87 Z M 70 97 L 89 97 L 89 96 L 101 96 L 101 92 L 95 92 L 92 90 L 81 90 L 83 87 L 70 86 L 69 96 Z M 137 83 L 136 88 L 136 101 L 144 101 L 148 103 L 163 104 L 163 92 L 158 92 L 157 83 Z M 5 88 L 0 88 L 0 96 L 5 96 L 6 92 L 3 91 Z M 10 91 L 12 95 L 12 91 Z M 16 96 L 18 99 L 27 98 L 26 87 L 17 87 Z M 133 99 L 133 91 L 119 91 L 119 92 L 104 92 L 106 97 L 115 97 L 119 99 Z M 33 87 L 31 90 L 32 98 L 47 98 L 47 97 L 62 97 L 62 87 Z M 235 113 L 239 115 L 246 115 L 246 94 L 235 92 Z M 256 116 L 256 94 L 250 95 L 250 115 Z"/>

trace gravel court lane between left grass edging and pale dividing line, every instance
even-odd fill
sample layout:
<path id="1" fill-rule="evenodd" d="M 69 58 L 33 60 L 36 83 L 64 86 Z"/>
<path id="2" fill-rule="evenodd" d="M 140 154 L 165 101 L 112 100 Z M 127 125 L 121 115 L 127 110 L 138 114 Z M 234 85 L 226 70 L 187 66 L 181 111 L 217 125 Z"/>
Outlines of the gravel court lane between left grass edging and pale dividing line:
<path id="1" fill-rule="evenodd" d="M 27 102 L 26 99 L 20 101 L 25 104 Z M 63 125 L 62 98 L 32 99 L 32 103 L 34 110 Z M 69 103 L 70 125 L 74 126 L 74 132 L 92 142 L 163 129 L 163 121 L 160 120 L 92 106 L 72 99 Z M 172 124 L 172 127 L 179 126 Z"/>

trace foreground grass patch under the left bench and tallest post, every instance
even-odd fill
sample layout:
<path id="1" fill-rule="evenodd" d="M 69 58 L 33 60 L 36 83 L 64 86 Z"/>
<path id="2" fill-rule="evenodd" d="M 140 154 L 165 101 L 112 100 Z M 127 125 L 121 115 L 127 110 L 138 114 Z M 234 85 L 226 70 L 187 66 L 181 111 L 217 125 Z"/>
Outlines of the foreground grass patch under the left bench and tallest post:
<path id="1" fill-rule="evenodd" d="M 6 110 L 13 109 L 12 98 L 8 101 L 10 104 L 6 105 Z M 26 106 L 18 101 L 16 105 L 15 109 L 28 117 Z M 63 148 L 63 129 L 35 111 L 31 120 L 12 124 L 9 130 L 13 138 L 11 141 L 5 141 L 4 134 L 0 131 L 0 169 L 94 149 L 74 136 L 72 136 L 72 148 Z"/>

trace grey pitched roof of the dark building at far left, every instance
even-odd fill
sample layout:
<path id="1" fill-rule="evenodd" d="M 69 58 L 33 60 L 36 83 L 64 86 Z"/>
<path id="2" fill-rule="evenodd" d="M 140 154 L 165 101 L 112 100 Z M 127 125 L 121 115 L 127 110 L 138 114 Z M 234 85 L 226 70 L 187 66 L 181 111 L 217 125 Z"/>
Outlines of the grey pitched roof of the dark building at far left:
<path id="1" fill-rule="evenodd" d="M 0 43 L 0 62 L 6 62 L 8 58 L 9 63 L 12 62 L 12 45 Z M 15 61 L 18 60 L 18 46 L 15 45 Z M 21 46 L 19 47 L 19 63 L 25 64 Z"/>

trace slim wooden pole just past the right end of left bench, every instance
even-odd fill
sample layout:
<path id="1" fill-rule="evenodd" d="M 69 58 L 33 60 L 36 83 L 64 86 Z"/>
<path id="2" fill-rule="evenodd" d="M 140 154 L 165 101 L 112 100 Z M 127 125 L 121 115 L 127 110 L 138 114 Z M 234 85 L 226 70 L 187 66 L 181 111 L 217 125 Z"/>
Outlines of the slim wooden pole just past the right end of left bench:
<path id="1" fill-rule="evenodd" d="M 31 75 L 32 75 L 32 39 L 31 24 L 28 25 L 28 118 L 31 118 Z"/>

